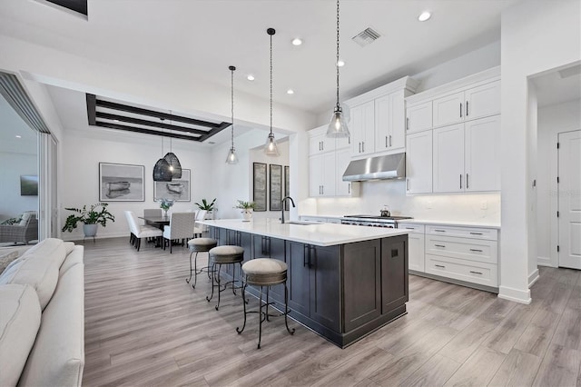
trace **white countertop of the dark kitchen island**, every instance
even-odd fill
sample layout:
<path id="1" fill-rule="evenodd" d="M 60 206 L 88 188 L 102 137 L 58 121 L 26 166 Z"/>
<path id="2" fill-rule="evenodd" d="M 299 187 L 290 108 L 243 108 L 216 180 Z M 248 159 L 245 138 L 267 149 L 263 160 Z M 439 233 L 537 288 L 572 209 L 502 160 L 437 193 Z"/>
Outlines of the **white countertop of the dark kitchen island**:
<path id="1" fill-rule="evenodd" d="M 337 223 L 281 224 L 281 221 L 272 218 L 256 218 L 251 222 L 242 222 L 241 219 L 220 219 L 196 221 L 196 223 L 317 246 L 369 241 L 409 233 L 409 230 L 403 229 L 361 227 Z"/>

